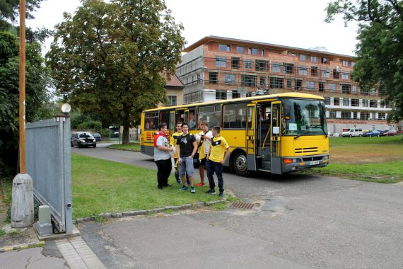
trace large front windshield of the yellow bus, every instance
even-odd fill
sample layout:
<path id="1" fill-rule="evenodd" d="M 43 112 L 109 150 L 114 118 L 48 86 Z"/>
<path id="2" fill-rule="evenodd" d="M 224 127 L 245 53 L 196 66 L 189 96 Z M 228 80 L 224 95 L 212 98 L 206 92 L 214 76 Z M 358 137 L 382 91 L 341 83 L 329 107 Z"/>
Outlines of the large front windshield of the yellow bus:
<path id="1" fill-rule="evenodd" d="M 283 135 L 327 135 L 323 101 L 283 100 Z"/>

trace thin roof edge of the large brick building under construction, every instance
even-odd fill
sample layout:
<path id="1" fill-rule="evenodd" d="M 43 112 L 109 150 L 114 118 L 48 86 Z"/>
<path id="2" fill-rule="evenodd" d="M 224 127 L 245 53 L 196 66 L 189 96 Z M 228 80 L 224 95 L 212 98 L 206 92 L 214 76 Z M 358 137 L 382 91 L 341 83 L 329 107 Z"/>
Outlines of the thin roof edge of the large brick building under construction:
<path id="1" fill-rule="evenodd" d="M 276 45 L 276 44 L 271 44 L 271 43 L 242 40 L 242 39 L 237 39 L 237 38 L 223 38 L 223 37 L 214 36 L 214 35 L 206 36 L 206 37 L 198 40 L 197 42 L 194 42 L 192 45 L 189 45 L 188 47 L 186 47 L 185 50 L 183 50 L 183 52 L 190 52 L 190 51 L 194 50 L 196 47 L 199 47 L 199 46 L 204 45 L 207 42 L 211 42 L 211 41 L 233 42 L 233 43 L 244 44 L 244 45 L 272 47 L 272 48 L 278 49 L 278 50 L 294 50 L 294 51 L 308 52 L 308 53 L 314 52 L 314 53 L 317 53 L 320 55 L 331 55 L 331 56 L 336 56 L 336 57 L 354 58 L 354 56 L 351 56 L 351 55 L 340 55 L 337 53 L 324 52 L 321 50 L 303 49 L 300 47 L 289 47 L 289 46 L 284 46 L 284 45 Z"/>

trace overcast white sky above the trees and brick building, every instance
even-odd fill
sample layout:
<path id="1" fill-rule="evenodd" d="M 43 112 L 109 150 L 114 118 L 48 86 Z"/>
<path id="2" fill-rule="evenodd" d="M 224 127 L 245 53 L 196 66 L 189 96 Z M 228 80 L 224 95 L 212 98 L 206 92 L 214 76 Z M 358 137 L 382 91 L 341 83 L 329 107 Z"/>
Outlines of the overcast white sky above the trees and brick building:
<path id="1" fill-rule="evenodd" d="M 341 18 L 325 23 L 327 0 L 165 0 L 175 21 L 185 27 L 191 45 L 206 35 L 268 42 L 292 47 L 323 46 L 328 52 L 354 55 L 357 25 Z M 28 20 L 33 28 L 52 29 L 63 12 L 74 13 L 79 0 L 45 0 Z M 45 50 L 49 50 L 50 40 Z"/>

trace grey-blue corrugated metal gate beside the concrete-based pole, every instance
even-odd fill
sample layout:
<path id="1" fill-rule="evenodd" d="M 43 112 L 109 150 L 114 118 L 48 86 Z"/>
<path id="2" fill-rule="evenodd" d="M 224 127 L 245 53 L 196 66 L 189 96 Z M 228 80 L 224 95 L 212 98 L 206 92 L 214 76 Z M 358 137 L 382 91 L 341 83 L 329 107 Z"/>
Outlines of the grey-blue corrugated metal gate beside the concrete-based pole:
<path id="1" fill-rule="evenodd" d="M 49 205 L 57 231 L 71 234 L 70 118 L 28 123 L 25 130 L 26 168 L 33 178 L 35 200 Z"/>

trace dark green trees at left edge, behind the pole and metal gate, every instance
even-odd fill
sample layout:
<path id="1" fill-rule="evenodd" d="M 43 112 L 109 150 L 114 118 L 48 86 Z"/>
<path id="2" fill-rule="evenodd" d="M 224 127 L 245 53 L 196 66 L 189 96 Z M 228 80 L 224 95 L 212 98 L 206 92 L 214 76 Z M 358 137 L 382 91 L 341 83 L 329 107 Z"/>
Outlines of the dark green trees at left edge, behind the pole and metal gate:
<path id="1" fill-rule="evenodd" d="M 16 35 L 0 32 L 0 176 L 16 169 L 18 156 L 19 42 Z M 26 46 L 26 119 L 52 117 L 49 110 L 50 72 L 40 44 Z M 15 172 L 12 171 L 12 172 Z"/>

